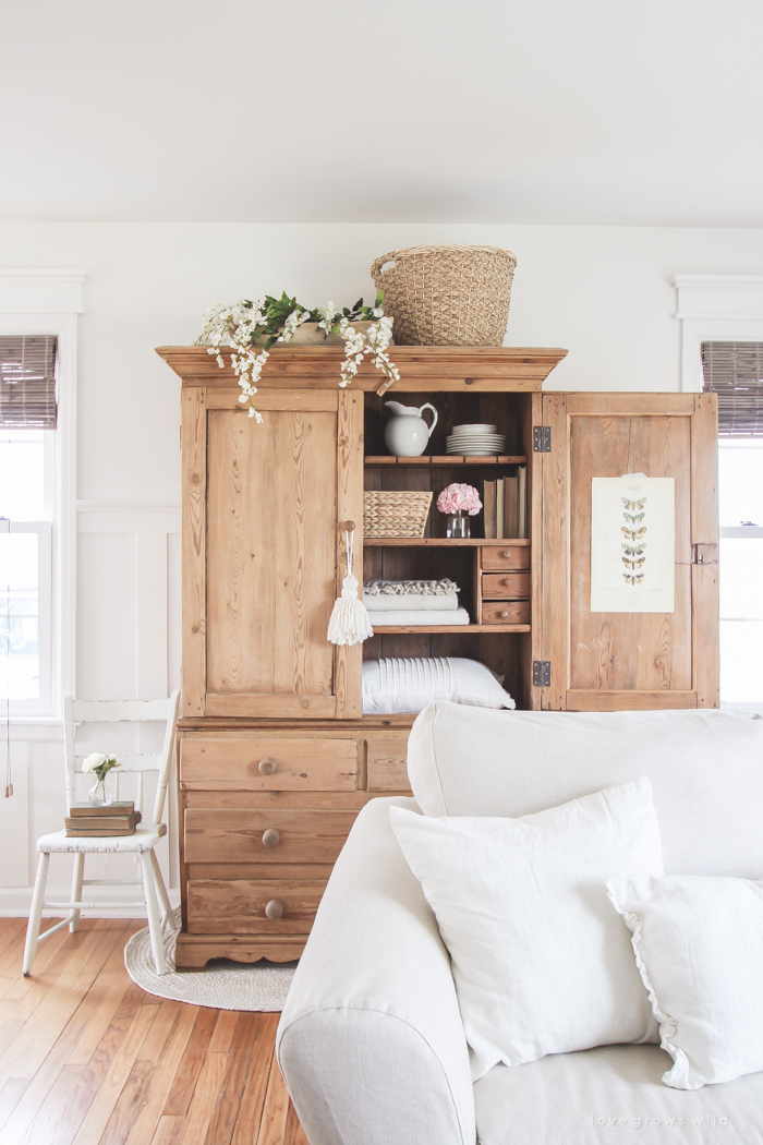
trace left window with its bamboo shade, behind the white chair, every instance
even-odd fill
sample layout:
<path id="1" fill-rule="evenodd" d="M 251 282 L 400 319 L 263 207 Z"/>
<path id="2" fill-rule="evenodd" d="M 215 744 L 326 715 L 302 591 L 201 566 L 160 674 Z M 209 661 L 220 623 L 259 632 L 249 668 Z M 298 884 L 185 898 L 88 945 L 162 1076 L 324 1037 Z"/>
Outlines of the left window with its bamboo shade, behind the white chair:
<path id="1" fill-rule="evenodd" d="M 0 700 L 53 706 L 53 337 L 0 337 Z"/>

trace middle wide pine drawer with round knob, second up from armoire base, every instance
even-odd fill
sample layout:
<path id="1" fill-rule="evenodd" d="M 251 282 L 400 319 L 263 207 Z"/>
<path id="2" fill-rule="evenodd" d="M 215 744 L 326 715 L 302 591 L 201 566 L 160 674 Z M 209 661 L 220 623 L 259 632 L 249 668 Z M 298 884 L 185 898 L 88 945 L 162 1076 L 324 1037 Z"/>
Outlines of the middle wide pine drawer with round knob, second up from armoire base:
<path id="1" fill-rule="evenodd" d="M 357 815 L 357 811 L 188 807 L 184 860 L 333 863 Z"/>

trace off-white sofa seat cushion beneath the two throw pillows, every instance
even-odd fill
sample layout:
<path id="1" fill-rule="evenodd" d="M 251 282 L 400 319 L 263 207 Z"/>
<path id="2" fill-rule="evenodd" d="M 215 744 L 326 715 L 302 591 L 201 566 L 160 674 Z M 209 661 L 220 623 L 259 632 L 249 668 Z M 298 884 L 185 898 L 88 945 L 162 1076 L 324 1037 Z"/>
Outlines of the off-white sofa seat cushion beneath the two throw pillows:
<path id="1" fill-rule="evenodd" d="M 475 1085 L 479 1145 L 763 1145 L 763 1074 L 692 1092 L 662 1084 L 669 1065 L 603 1045 L 495 1066 Z"/>

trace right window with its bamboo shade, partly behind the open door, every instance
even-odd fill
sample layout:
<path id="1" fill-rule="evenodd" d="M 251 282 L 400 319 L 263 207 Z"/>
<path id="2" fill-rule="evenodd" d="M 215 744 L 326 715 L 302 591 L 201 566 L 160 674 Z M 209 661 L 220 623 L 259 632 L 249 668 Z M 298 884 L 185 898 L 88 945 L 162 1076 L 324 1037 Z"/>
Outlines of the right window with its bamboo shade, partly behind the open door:
<path id="1" fill-rule="evenodd" d="M 763 344 L 705 342 L 718 394 L 721 701 L 763 704 Z"/>

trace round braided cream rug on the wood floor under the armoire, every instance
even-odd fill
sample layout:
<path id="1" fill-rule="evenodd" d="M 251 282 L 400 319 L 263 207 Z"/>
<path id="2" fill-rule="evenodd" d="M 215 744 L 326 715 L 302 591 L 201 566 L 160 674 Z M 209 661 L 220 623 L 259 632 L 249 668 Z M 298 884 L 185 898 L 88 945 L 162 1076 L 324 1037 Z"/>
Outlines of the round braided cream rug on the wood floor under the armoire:
<path id="1" fill-rule="evenodd" d="M 283 1010 L 292 985 L 296 962 L 255 962 L 245 965 L 215 958 L 205 970 L 175 970 L 175 942 L 180 930 L 180 910 L 173 926 L 165 933 L 167 973 L 153 969 L 151 938 L 148 926 L 129 939 L 125 947 L 127 973 L 148 994 L 191 1005 L 208 1005 L 214 1010 Z"/>

